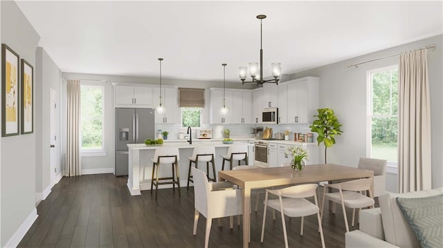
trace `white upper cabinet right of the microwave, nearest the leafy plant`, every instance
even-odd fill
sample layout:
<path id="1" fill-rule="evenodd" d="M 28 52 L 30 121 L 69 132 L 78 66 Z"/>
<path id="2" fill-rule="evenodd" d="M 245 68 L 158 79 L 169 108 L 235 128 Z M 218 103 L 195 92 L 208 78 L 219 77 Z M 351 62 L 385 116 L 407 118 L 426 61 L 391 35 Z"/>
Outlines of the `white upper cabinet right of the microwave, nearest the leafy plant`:
<path id="1" fill-rule="evenodd" d="M 319 106 L 319 81 L 318 77 L 303 77 L 279 85 L 279 87 L 287 86 L 286 117 L 279 109 L 282 124 L 310 124 L 312 122 Z M 284 122 L 285 118 L 286 122 Z"/>

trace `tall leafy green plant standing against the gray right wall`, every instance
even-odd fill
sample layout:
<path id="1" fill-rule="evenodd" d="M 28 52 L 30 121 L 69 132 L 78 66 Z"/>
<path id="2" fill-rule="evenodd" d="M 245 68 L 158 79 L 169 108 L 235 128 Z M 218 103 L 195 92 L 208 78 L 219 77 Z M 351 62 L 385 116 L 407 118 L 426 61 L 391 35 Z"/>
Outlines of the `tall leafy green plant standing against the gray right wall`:
<path id="1" fill-rule="evenodd" d="M 338 122 L 334 111 L 331 108 L 318 108 L 317 120 L 314 120 L 311 126 L 312 132 L 318 133 L 317 144 L 320 145 L 321 142 L 325 144 L 325 164 L 326 162 L 326 152 L 327 148 L 335 144 L 335 135 L 341 135 L 341 124 Z"/>

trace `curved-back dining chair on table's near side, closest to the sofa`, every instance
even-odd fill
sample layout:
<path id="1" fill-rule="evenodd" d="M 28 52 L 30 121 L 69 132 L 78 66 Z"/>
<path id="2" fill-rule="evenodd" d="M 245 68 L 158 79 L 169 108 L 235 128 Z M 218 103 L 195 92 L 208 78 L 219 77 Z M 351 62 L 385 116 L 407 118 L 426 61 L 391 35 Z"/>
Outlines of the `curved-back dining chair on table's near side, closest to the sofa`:
<path id="1" fill-rule="evenodd" d="M 343 209 L 343 218 L 345 219 L 346 231 L 349 231 L 347 225 L 346 208 L 352 209 L 352 227 L 354 227 L 355 209 L 362 207 L 374 207 L 374 199 L 372 199 L 371 184 L 372 178 L 363 178 L 340 182 L 336 184 L 327 184 L 323 189 L 323 200 L 321 204 L 321 217 L 323 218 L 323 209 L 325 209 L 325 199 L 341 204 Z M 326 188 L 338 189 L 338 192 L 326 193 Z M 369 197 L 359 193 L 360 191 L 368 191 Z"/>

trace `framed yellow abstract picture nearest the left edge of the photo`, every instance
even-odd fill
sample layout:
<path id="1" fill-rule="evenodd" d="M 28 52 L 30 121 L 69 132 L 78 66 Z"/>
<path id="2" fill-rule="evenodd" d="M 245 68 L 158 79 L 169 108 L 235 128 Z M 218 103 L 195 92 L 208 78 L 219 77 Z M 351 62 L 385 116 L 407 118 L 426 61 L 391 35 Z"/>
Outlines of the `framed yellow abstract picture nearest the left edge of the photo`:
<path id="1" fill-rule="evenodd" d="M 1 44 L 1 136 L 19 135 L 19 55 Z"/>

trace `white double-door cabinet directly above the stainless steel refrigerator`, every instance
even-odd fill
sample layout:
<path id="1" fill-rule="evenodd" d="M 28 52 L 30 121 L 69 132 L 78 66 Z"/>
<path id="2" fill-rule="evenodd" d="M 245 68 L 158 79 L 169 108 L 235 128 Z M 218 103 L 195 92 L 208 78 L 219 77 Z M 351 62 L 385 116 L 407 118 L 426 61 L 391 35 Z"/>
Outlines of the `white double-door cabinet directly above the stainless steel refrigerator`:
<path id="1" fill-rule="evenodd" d="M 115 85 L 115 106 L 130 108 L 152 108 L 154 106 L 152 86 Z"/>

